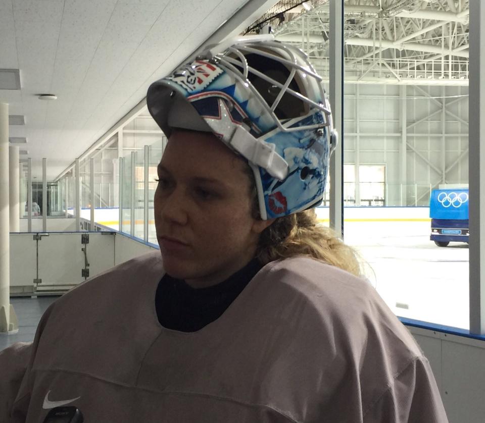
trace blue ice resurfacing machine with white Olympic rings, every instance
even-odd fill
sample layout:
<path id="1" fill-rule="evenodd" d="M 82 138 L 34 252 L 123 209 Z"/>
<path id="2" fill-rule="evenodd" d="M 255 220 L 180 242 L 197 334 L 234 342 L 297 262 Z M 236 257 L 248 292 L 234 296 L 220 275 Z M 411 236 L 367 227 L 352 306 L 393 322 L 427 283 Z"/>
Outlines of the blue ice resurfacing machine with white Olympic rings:
<path id="1" fill-rule="evenodd" d="M 468 188 L 434 189 L 429 199 L 431 236 L 439 247 L 468 242 Z"/>

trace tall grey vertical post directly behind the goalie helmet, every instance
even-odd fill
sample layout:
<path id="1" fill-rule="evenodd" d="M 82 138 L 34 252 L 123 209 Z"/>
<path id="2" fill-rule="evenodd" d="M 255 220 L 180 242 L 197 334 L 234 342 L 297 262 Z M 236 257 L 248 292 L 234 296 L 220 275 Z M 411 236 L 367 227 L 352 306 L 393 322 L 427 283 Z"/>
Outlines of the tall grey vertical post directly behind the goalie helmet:
<path id="1" fill-rule="evenodd" d="M 330 228 L 344 237 L 344 2 L 330 2 L 330 105 L 338 145 L 330 157 Z"/>

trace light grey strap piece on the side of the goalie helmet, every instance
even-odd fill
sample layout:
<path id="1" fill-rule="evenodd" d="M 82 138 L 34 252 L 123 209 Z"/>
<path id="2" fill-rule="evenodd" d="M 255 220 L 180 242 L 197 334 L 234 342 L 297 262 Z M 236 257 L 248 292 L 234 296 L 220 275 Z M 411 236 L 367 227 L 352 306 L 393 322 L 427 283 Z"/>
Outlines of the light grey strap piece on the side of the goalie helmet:
<path id="1" fill-rule="evenodd" d="M 255 138 L 242 125 L 236 125 L 228 144 L 273 178 L 282 181 L 288 175 L 288 163 L 275 151 L 275 145 Z"/>

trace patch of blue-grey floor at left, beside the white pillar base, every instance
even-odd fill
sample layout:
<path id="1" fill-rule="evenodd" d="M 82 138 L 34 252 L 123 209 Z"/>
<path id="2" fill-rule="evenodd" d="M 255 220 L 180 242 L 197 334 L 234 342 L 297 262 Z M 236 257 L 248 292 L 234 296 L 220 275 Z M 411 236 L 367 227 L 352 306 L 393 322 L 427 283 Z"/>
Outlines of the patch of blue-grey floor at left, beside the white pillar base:
<path id="1" fill-rule="evenodd" d="M 58 298 L 59 296 L 11 298 L 10 303 L 19 319 L 19 332 L 13 335 L 0 334 L 0 351 L 16 342 L 33 341 L 43 312 Z"/>

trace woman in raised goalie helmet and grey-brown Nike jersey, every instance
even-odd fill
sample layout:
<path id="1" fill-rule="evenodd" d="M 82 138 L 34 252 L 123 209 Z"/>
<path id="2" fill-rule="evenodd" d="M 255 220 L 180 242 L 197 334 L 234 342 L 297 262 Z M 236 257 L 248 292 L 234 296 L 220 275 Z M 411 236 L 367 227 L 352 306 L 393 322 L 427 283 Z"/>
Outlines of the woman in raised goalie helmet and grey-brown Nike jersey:
<path id="1" fill-rule="evenodd" d="M 0 354 L 0 417 L 446 422 L 419 347 L 316 222 L 335 136 L 302 52 L 264 37 L 212 47 L 147 104 L 169 137 L 162 254 L 67 293 L 32 346 Z"/>

